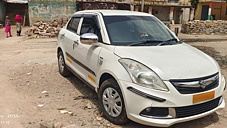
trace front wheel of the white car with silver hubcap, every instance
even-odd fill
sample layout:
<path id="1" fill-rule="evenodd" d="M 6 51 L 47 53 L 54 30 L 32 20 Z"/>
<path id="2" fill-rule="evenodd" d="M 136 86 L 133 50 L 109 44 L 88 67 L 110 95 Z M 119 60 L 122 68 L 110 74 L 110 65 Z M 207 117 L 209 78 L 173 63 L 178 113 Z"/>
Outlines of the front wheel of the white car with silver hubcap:
<path id="1" fill-rule="evenodd" d="M 111 96 L 107 96 L 108 94 L 106 93 L 106 91 L 110 92 L 110 90 L 112 91 Z M 110 122 L 112 122 L 114 124 L 125 124 L 129 121 L 129 119 L 127 118 L 124 99 L 122 96 L 121 89 L 114 79 L 107 79 L 101 84 L 101 87 L 100 87 L 99 93 L 98 93 L 98 97 L 99 97 L 101 110 L 103 112 L 104 117 L 107 120 L 109 120 Z M 113 99 L 111 99 L 111 98 L 113 98 Z M 118 101 L 118 100 L 120 100 L 120 101 Z M 109 104 L 107 104 L 107 102 Z M 112 107 L 114 106 L 115 109 L 111 108 L 111 106 Z M 117 106 L 117 107 L 115 107 L 115 106 Z M 108 108 L 111 108 L 110 111 L 112 111 L 112 113 L 107 112 Z"/>

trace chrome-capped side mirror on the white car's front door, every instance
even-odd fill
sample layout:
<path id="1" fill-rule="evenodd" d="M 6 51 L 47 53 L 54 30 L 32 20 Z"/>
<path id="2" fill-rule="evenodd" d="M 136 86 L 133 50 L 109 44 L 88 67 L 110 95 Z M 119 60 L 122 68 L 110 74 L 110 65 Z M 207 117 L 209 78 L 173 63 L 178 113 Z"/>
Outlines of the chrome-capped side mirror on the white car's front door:
<path id="1" fill-rule="evenodd" d="M 94 33 L 85 33 L 80 36 L 80 42 L 91 45 L 98 42 L 98 36 Z"/>

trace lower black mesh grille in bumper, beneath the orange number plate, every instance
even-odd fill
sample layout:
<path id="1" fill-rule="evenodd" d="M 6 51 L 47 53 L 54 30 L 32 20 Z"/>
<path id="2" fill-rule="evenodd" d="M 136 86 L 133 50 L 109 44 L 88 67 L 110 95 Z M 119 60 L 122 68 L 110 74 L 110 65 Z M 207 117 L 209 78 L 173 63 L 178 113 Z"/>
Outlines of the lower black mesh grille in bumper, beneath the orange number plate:
<path id="1" fill-rule="evenodd" d="M 186 107 L 176 107 L 176 118 L 198 115 L 216 108 L 219 105 L 221 97 L 214 100 Z"/>

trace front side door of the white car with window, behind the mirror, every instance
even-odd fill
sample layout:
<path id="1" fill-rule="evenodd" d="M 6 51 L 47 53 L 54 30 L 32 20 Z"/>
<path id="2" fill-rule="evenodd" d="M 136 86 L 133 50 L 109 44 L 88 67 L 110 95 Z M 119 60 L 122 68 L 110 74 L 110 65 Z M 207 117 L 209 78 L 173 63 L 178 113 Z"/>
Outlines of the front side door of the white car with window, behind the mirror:
<path id="1" fill-rule="evenodd" d="M 81 20 L 79 36 L 85 33 L 94 33 L 98 36 L 99 42 L 102 42 L 97 15 L 84 14 Z M 74 54 L 72 54 L 78 67 L 77 69 L 80 70 L 80 75 L 94 87 L 97 83 L 96 72 L 100 50 L 101 45 L 82 44 L 79 41 L 78 45 L 74 48 Z"/>

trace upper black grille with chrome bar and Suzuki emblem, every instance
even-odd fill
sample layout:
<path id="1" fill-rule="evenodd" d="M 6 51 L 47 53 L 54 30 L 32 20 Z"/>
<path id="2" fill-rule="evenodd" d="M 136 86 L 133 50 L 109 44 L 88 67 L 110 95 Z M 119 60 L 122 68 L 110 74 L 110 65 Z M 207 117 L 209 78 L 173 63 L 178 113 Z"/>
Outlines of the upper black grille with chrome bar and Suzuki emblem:
<path id="1" fill-rule="evenodd" d="M 215 73 L 213 75 L 202 77 L 202 78 L 196 78 L 196 79 L 183 79 L 183 80 L 170 80 L 170 82 L 174 85 L 174 87 L 178 90 L 181 94 L 193 94 L 193 93 L 199 93 L 211 90 L 213 88 L 216 88 L 219 85 L 219 79 L 218 79 L 218 73 Z M 210 79 L 213 79 L 211 83 L 209 83 L 206 86 L 203 86 L 201 81 L 211 81 Z"/>

